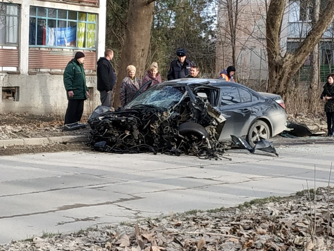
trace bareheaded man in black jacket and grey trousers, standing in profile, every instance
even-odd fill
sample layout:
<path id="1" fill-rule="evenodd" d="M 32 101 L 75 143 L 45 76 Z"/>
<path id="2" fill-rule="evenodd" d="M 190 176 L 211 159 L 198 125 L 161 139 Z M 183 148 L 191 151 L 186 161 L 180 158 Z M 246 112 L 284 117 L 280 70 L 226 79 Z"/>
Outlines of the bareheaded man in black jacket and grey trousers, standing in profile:
<path id="1" fill-rule="evenodd" d="M 105 51 L 105 56 L 97 62 L 98 91 L 102 105 L 111 106 L 111 94 L 115 85 L 115 73 L 110 61 L 114 57 L 111 49 Z"/>

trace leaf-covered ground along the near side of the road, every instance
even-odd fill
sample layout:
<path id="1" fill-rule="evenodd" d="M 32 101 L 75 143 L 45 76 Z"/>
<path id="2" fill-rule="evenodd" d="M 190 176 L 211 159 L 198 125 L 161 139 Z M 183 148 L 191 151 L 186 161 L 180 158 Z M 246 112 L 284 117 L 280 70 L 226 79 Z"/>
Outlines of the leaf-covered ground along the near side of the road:
<path id="1" fill-rule="evenodd" d="M 301 194 L 303 194 L 301 192 Z M 332 251 L 334 188 L 11 242 L 0 251 Z"/>

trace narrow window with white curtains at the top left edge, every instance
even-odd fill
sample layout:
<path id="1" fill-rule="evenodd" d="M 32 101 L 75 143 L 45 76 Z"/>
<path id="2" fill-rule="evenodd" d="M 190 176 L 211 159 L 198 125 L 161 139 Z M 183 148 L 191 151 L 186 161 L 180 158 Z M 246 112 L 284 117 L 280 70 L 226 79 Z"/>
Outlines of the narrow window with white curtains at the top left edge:
<path id="1" fill-rule="evenodd" d="M 0 3 L 0 45 L 18 46 L 19 6 Z"/>

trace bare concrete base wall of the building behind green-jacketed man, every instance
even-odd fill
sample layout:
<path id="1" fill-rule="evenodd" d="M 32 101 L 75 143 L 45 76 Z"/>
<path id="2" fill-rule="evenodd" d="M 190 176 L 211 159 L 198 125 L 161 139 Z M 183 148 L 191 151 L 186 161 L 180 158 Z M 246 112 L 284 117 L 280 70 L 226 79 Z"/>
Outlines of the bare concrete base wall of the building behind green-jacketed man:
<path id="1" fill-rule="evenodd" d="M 32 113 L 63 115 L 67 108 L 63 76 L 53 74 L 0 74 L 0 86 L 19 87 L 18 101 L 2 99 L 0 113 Z M 96 89 L 96 75 L 86 76 L 92 97 L 85 101 L 85 111 L 99 105 L 100 94 Z"/>

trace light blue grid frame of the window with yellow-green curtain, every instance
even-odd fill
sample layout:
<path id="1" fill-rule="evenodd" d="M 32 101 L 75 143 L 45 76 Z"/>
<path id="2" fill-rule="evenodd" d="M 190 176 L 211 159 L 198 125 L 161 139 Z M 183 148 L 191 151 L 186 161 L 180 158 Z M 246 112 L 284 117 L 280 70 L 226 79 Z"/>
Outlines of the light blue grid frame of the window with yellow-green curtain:
<path id="1" fill-rule="evenodd" d="M 54 8 L 44 8 L 44 7 L 38 7 L 38 6 L 29 6 L 29 12 L 30 12 L 30 8 L 35 8 L 36 10 L 36 15 L 30 15 L 29 13 L 29 19 L 30 18 L 34 18 L 35 19 L 35 23 L 36 23 L 36 27 L 35 27 L 35 45 L 29 45 L 29 48 L 57 48 L 57 49 L 73 49 L 73 50 L 89 50 L 89 51 L 96 51 L 96 45 L 97 45 L 97 41 L 96 41 L 96 32 L 97 32 L 97 21 L 95 22 L 90 22 L 88 21 L 88 14 L 92 14 L 95 15 L 96 20 L 97 20 L 97 14 L 96 13 L 89 13 L 89 12 L 82 12 L 82 11 L 75 11 L 76 12 L 76 20 L 75 19 L 68 19 L 68 12 L 71 10 L 65 10 L 66 11 L 66 19 L 65 18 L 58 18 L 58 10 L 63 10 L 63 9 L 54 9 Z M 38 16 L 38 9 L 39 8 L 44 8 L 46 9 L 46 16 Z M 49 9 L 54 9 L 56 10 L 56 17 L 48 17 L 49 15 Z M 74 10 L 73 10 L 74 11 Z M 79 20 L 79 13 L 85 13 L 86 14 L 86 20 Z M 45 20 L 45 26 L 48 27 L 48 20 L 55 20 L 56 21 L 56 28 L 58 28 L 58 20 L 60 21 L 66 21 L 66 35 L 67 35 L 67 28 L 68 28 L 68 22 L 76 22 L 77 24 L 77 28 L 76 28 L 76 39 L 75 39 L 75 47 L 72 46 L 47 46 L 47 45 L 37 45 L 37 22 L 38 20 Z M 85 23 L 85 46 L 86 47 L 78 47 L 78 23 Z M 88 48 L 87 47 L 87 33 L 88 33 L 88 24 L 95 24 L 95 36 L 94 36 L 94 40 L 95 40 L 95 48 Z M 56 32 L 56 36 L 55 39 L 57 41 L 57 32 Z"/>

